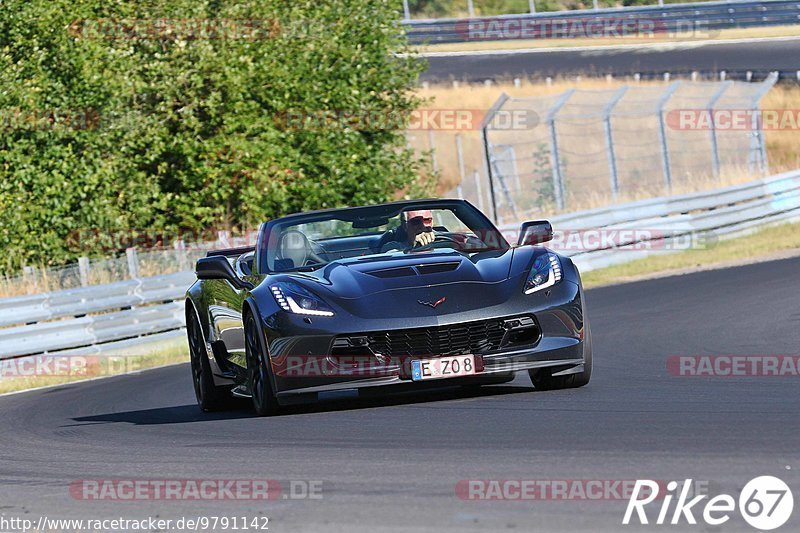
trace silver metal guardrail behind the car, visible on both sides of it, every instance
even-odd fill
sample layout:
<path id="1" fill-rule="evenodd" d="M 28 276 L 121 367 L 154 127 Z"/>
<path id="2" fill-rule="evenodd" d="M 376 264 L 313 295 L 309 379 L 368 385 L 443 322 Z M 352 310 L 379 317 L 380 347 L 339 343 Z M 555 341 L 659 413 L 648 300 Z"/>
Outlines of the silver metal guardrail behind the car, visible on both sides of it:
<path id="1" fill-rule="evenodd" d="M 586 272 L 793 219 L 800 219 L 800 171 L 557 216 L 551 219 L 557 232 L 552 244 Z M 501 229 L 514 235 L 518 225 Z M 577 234 L 583 242 L 582 235 L 598 230 L 613 234 L 613 244 L 604 245 L 599 238 L 593 239 L 593 248 L 570 249 L 569 235 Z M 0 299 L 0 359 L 64 351 L 100 353 L 108 347 L 180 336 L 185 326 L 182 300 L 194 280 L 194 272 L 180 272 Z"/>

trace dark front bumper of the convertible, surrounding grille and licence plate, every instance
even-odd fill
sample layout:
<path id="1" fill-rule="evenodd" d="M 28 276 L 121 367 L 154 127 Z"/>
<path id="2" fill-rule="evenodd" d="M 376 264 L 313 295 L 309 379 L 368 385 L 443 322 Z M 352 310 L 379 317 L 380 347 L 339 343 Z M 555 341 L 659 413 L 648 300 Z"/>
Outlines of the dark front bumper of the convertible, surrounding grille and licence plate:
<path id="1" fill-rule="evenodd" d="M 452 314 L 435 317 L 434 325 L 458 325 L 476 319 L 503 320 L 518 316 L 534 317 L 539 329 L 535 342 L 475 353 L 482 357 L 484 365 L 483 371 L 476 376 L 414 382 L 410 379 L 410 360 L 435 357 L 436 354 L 406 354 L 388 360 L 378 359 L 366 367 L 354 360 L 331 357 L 334 341 L 343 335 L 357 336 L 365 330 L 408 329 L 398 328 L 396 321 L 375 319 L 365 324 L 365 321 L 359 320 L 359 326 L 366 327 L 355 331 L 354 322 L 336 321 L 329 326 L 338 327 L 309 332 L 308 324 L 294 323 L 301 321 L 301 318 L 282 315 L 280 319 L 284 323 L 276 324 L 267 320 L 264 325 L 274 390 L 281 403 L 288 403 L 303 395 L 320 392 L 402 384 L 448 386 L 461 382 L 496 380 L 503 376 L 513 377 L 516 372 L 543 367 L 559 367 L 555 372 L 561 374 L 583 371 L 583 363 L 591 355 L 586 353 L 591 350 L 591 343 L 584 338 L 588 328 L 583 315 L 581 287 L 572 281 L 565 280 L 547 294 L 525 295 L 497 308 L 482 309 L 480 314 L 470 312 L 461 316 Z M 426 323 L 424 317 L 404 323 L 404 326 L 410 327 L 425 325 L 434 327 L 430 319 Z M 294 331 L 296 335 L 292 334 Z"/>

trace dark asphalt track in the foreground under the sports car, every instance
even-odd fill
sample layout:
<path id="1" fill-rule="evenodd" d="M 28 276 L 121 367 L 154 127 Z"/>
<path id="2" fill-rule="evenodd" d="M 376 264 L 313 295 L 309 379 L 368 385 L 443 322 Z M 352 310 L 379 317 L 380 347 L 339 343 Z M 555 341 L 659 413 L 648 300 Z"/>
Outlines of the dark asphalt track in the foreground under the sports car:
<path id="1" fill-rule="evenodd" d="M 270 531 L 652 531 L 623 501 L 465 501 L 464 479 L 693 478 L 738 495 L 776 475 L 800 503 L 798 378 L 685 378 L 672 355 L 797 354 L 800 259 L 588 292 L 589 386 L 525 377 L 478 396 L 444 389 L 204 415 L 179 365 L 0 398 L 0 513 L 269 516 Z M 271 502 L 82 501 L 79 479 L 321 480 L 323 497 Z M 654 518 L 655 511 L 651 514 Z M 779 531 L 797 531 L 800 511 Z M 662 526 L 659 530 L 665 530 Z M 752 531 L 735 515 L 722 528 Z"/>

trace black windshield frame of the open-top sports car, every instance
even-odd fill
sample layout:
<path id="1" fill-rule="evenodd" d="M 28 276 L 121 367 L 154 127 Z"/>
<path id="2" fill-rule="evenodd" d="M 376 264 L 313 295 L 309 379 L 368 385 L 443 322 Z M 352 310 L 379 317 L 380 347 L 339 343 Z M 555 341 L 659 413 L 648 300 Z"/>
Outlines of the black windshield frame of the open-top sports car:
<path id="1" fill-rule="evenodd" d="M 270 242 L 278 237 L 278 228 L 286 225 L 307 224 L 310 222 L 317 222 L 329 219 L 339 219 L 348 222 L 357 220 L 365 220 L 368 218 L 392 218 L 399 215 L 402 211 L 408 210 L 422 210 L 422 209 L 449 209 L 452 210 L 456 216 L 463 222 L 467 223 L 470 219 L 477 222 L 481 227 L 484 227 L 487 233 L 494 233 L 494 238 L 497 246 L 493 247 L 493 251 L 505 251 L 511 248 L 511 245 L 503 236 L 503 233 L 497 229 L 489 218 L 483 214 L 478 208 L 466 200 L 456 199 L 442 199 L 442 200 L 410 200 L 403 202 L 394 202 L 389 204 L 378 204 L 364 207 L 347 207 L 342 209 L 327 209 L 324 211 L 312 211 L 308 213 L 298 213 L 295 215 L 288 215 L 285 217 L 277 218 L 269 222 L 261 224 L 258 232 L 258 240 L 256 243 L 256 257 L 253 263 L 255 275 L 269 275 L 269 274 L 289 274 L 292 272 L 300 271 L 302 267 L 291 270 L 272 271 L 269 269 L 269 246 Z M 369 228 L 364 228 L 365 233 Z M 275 244 L 273 243 L 273 246 Z M 325 263 L 328 265 L 329 263 Z M 322 265 L 320 265 L 322 266 Z M 308 268 L 308 267 L 306 267 Z"/>

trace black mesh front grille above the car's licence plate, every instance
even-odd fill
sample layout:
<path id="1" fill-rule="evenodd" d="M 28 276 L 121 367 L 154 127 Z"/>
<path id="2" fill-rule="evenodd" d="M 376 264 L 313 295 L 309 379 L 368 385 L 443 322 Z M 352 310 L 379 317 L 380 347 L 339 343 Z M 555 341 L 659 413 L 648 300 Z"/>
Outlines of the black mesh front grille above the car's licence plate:
<path id="1" fill-rule="evenodd" d="M 523 324 L 520 324 L 522 319 Z M 532 335 L 518 336 L 514 332 L 524 329 Z M 535 331 L 534 331 L 535 330 Z M 402 356 L 440 356 L 460 354 L 484 354 L 498 350 L 517 339 L 525 339 L 526 344 L 538 340 L 539 328 L 531 317 L 497 318 L 438 326 L 430 328 L 389 330 L 350 335 L 345 339 L 366 339 L 369 350 L 375 354 L 389 357 Z M 361 340 L 358 341 L 363 342 Z M 339 340 L 335 345 L 350 345 Z M 355 345 L 353 342 L 352 345 Z"/>

